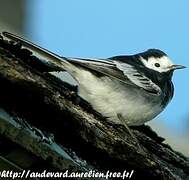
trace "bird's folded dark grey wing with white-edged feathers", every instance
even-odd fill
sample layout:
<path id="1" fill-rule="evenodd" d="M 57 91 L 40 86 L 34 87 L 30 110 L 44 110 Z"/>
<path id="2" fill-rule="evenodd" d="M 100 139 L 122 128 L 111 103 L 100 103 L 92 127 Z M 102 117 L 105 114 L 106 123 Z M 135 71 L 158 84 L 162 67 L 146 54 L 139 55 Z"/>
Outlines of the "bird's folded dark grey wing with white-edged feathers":
<path id="1" fill-rule="evenodd" d="M 68 58 L 71 63 L 97 72 L 97 75 L 107 75 L 123 83 L 139 87 L 153 94 L 160 94 L 161 89 L 148 77 L 142 75 L 131 64 L 111 59 L 79 59 Z"/>

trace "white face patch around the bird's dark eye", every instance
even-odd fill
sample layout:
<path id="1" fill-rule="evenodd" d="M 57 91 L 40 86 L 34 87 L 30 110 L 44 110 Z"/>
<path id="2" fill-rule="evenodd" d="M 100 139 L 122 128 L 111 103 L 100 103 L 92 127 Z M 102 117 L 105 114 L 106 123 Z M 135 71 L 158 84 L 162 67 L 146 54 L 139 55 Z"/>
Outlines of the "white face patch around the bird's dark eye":
<path id="1" fill-rule="evenodd" d="M 173 65 L 172 61 L 167 56 L 163 56 L 161 58 L 150 57 L 148 60 L 144 59 L 143 57 L 140 58 L 147 68 L 153 69 L 160 73 L 169 71 L 169 67 Z M 159 63 L 160 67 L 156 67 L 155 63 Z"/>

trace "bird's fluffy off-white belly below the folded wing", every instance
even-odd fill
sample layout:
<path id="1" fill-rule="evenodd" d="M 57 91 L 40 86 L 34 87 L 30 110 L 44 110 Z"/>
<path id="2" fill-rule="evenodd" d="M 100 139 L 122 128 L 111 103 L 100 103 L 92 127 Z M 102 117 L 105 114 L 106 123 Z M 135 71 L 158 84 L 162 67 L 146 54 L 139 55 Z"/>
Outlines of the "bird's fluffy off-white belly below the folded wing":
<path id="1" fill-rule="evenodd" d="M 99 80 L 89 72 L 80 73 L 77 78 L 79 95 L 113 123 L 122 124 L 117 118 L 119 113 L 128 125 L 141 125 L 163 110 L 158 96 L 117 80 L 108 77 Z"/>

